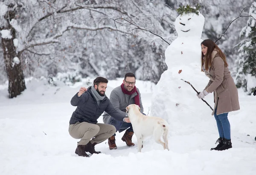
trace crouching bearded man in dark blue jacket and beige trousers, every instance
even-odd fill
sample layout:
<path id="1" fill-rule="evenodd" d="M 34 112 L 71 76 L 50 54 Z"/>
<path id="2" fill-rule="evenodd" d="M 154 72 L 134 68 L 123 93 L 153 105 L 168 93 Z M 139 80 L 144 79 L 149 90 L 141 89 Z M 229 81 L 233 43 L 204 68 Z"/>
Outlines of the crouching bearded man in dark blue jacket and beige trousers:
<path id="1" fill-rule="evenodd" d="M 79 156 L 89 157 L 95 151 L 94 146 L 111 137 L 116 128 L 113 125 L 97 123 L 97 119 L 104 111 L 108 112 L 115 120 L 130 122 L 127 113 L 114 109 L 108 97 L 105 95 L 108 80 L 104 77 L 96 77 L 93 86 L 88 89 L 81 87 L 79 92 L 71 99 L 71 105 L 77 106 L 70 118 L 69 133 L 71 137 L 81 139 L 75 153 Z"/>

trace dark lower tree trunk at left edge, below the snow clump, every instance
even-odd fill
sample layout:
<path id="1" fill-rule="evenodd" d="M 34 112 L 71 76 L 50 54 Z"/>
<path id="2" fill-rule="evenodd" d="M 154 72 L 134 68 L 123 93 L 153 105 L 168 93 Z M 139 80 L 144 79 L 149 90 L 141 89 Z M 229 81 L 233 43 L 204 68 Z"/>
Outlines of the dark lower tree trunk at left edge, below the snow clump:
<path id="1" fill-rule="evenodd" d="M 26 89 L 21 63 L 17 64 L 13 61 L 13 58 L 17 56 L 13 39 L 14 37 L 11 39 L 2 38 L 3 56 L 9 80 L 9 98 L 17 97 Z"/>

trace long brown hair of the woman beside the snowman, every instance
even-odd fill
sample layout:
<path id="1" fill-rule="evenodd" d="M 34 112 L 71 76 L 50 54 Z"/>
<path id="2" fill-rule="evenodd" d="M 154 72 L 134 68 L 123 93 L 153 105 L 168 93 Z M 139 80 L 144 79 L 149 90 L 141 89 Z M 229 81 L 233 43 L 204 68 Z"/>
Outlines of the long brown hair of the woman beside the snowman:
<path id="1" fill-rule="evenodd" d="M 204 61 L 205 61 L 205 70 L 209 70 L 209 68 L 212 66 L 212 51 L 214 49 L 216 49 L 218 51 L 218 54 L 224 61 L 224 66 L 225 67 L 228 66 L 227 61 L 226 61 L 226 56 L 212 40 L 210 40 L 210 39 L 204 40 L 201 43 L 201 46 L 202 45 L 207 47 L 207 53 L 205 56 L 204 56 L 203 52 L 201 52 L 201 54 L 202 54 L 202 56 L 201 56 L 201 71 L 202 72 L 204 72 L 204 70 L 203 70 Z"/>

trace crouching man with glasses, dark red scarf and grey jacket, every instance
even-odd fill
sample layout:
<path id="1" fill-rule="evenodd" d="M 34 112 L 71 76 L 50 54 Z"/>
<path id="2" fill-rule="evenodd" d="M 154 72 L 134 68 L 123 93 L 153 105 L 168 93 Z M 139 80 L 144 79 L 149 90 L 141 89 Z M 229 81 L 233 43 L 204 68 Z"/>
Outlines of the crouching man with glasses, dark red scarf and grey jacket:
<path id="1" fill-rule="evenodd" d="M 133 73 L 127 73 L 125 74 L 125 79 L 123 80 L 122 85 L 112 90 L 109 99 L 116 110 L 125 113 L 125 108 L 127 106 L 130 104 L 137 104 L 140 106 L 140 112 L 143 114 L 143 105 L 141 102 L 140 91 L 135 86 L 135 83 L 135 75 Z M 122 137 L 122 141 L 124 141 L 127 146 L 134 146 L 134 143 L 131 141 L 131 138 L 134 134 L 131 123 L 116 120 L 107 112 L 105 112 L 103 115 L 103 122 L 115 126 L 116 132 L 122 132 L 126 130 Z M 116 134 L 108 138 L 109 149 L 117 149 L 115 135 Z"/>

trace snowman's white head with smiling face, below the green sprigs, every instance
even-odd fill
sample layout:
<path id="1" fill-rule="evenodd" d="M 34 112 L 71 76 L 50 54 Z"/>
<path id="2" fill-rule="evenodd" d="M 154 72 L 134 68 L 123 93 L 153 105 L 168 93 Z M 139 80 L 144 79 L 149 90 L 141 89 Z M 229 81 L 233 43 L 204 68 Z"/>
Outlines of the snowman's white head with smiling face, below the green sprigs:
<path id="1" fill-rule="evenodd" d="M 204 28 L 204 16 L 188 13 L 180 14 L 175 20 L 175 29 L 179 37 L 199 37 L 201 38 Z"/>

